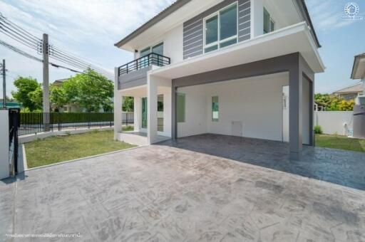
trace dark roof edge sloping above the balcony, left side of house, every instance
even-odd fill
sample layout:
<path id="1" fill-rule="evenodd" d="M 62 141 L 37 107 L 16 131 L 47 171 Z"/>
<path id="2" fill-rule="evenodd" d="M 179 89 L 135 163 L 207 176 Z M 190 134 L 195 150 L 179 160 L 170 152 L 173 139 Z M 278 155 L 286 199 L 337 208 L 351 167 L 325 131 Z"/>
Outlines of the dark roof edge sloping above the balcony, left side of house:
<path id="1" fill-rule="evenodd" d="M 154 16 L 152 19 L 150 19 L 148 22 L 144 23 L 142 26 L 137 28 L 135 31 L 130 33 L 128 36 L 123 38 L 118 43 L 115 43 L 114 46 L 120 47 L 123 46 L 125 43 L 128 43 L 128 41 L 132 40 L 136 36 L 140 35 L 140 33 L 143 33 L 143 31 L 146 31 L 151 26 L 155 25 L 155 23 L 158 23 L 159 21 L 165 19 L 165 17 L 169 16 L 170 14 L 173 14 L 176 10 L 180 9 L 182 6 L 190 2 L 191 0 L 177 0 L 175 3 L 168 6 L 166 9 L 160 12 L 160 14 Z"/>

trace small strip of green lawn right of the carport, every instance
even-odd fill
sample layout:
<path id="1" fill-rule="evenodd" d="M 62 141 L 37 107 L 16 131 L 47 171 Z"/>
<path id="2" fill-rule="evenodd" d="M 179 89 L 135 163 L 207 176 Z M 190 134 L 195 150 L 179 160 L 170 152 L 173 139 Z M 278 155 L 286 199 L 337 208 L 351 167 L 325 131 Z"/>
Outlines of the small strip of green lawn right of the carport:
<path id="1" fill-rule="evenodd" d="M 365 152 L 365 140 L 341 135 L 316 135 L 316 146 Z"/>

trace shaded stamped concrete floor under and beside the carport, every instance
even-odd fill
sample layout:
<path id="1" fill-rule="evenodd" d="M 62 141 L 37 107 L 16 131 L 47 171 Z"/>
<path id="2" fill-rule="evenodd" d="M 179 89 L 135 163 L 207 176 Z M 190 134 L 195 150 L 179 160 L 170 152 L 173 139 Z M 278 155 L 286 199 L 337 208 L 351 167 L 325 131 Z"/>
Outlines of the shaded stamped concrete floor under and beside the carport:
<path id="1" fill-rule="evenodd" d="M 286 142 L 214 134 L 183 137 L 161 144 L 365 190 L 363 152 L 303 145 L 302 159 L 291 161 Z"/>

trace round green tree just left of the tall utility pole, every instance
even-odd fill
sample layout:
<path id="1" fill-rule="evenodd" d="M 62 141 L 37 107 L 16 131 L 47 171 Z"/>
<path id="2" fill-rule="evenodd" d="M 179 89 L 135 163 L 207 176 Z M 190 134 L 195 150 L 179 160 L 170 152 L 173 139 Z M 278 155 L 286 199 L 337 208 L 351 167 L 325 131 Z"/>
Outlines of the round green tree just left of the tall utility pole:
<path id="1" fill-rule="evenodd" d="M 37 83 L 37 80 L 31 77 L 19 76 L 14 80 L 14 85 L 17 91 L 12 91 L 11 95 L 21 102 L 23 107 L 28 108 L 30 111 L 41 108 L 41 97 L 39 95 L 41 90 L 41 84 Z"/>

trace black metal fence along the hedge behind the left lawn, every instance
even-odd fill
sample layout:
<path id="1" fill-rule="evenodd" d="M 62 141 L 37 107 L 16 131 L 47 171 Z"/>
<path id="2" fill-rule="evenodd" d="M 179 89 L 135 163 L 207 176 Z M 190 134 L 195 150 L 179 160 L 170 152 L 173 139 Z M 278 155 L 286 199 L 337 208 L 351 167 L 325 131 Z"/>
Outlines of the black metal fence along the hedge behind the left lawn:
<path id="1" fill-rule="evenodd" d="M 133 124 L 133 113 L 125 113 L 123 124 Z M 21 112 L 19 135 L 45 131 L 77 130 L 91 127 L 112 127 L 112 112 Z"/>

